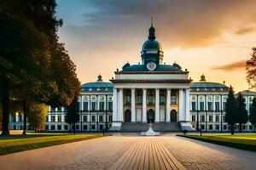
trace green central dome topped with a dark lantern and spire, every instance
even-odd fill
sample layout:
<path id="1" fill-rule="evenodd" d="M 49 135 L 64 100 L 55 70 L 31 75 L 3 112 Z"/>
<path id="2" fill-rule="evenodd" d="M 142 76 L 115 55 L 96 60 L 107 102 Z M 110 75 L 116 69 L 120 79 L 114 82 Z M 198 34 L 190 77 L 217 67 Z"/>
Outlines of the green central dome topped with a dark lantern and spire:
<path id="1" fill-rule="evenodd" d="M 151 26 L 148 29 L 148 40 L 143 43 L 141 57 L 144 65 L 147 65 L 147 63 L 151 61 L 157 65 L 162 64 L 164 52 L 160 42 L 155 40 L 155 29 L 153 23 L 151 23 Z"/>

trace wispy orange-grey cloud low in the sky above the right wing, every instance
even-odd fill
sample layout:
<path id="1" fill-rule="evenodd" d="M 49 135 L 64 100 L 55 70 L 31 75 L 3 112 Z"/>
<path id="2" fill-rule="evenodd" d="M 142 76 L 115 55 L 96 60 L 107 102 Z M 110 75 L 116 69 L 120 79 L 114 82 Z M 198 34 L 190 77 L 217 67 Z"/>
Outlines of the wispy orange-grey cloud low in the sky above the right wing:
<path id="1" fill-rule="evenodd" d="M 233 63 L 227 64 L 227 65 L 216 65 L 212 66 L 212 70 L 219 70 L 219 71 L 242 71 L 245 70 L 246 66 L 246 59 L 235 61 Z"/>

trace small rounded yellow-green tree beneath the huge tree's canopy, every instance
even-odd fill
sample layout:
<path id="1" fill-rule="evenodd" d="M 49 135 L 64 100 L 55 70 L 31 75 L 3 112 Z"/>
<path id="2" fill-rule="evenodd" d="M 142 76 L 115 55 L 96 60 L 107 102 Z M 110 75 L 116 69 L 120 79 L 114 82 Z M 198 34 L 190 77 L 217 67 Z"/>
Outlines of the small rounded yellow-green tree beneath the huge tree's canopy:
<path id="1" fill-rule="evenodd" d="M 48 106 L 44 104 L 30 105 L 28 111 L 28 122 L 34 127 L 35 132 L 44 130 L 45 116 L 47 115 Z"/>

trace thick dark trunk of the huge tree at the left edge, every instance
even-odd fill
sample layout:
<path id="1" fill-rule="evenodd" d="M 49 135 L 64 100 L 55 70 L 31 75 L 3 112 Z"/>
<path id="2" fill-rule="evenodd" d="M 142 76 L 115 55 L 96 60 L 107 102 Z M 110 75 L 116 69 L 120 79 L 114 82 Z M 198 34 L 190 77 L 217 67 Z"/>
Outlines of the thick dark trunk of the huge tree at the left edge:
<path id="1" fill-rule="evenodd" d="M 2 136 L 9 136 L 9 80 L 3 81 L 0 87 L 3 122 L 2 122 Z"/>

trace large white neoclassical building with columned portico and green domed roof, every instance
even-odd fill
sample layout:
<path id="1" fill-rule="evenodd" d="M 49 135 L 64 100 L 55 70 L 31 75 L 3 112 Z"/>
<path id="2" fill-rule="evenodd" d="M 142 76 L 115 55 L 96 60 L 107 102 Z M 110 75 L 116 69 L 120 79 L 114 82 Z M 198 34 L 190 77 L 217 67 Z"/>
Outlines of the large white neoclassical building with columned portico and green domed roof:
<path id="1" fill-rule="evenodd" d="M 148 123 L 154 123 L 157 131 L 202 129 L 203 131 L 228 131 L 225 122 L 225 102 L 229 88 L 224 83 L 192 82 L 189 71 L 180 65 L 163 63 L 164 52 L 155 40 L 155 29 L 148 30 L 148 40 L 143 43 L 141 64 L 126 63 L 110 82 L 99 76 L 96 82 L 84 83 L 79 95 L 79 131 L 96 132 L 144 131 Z M 256 97 L 253 91 L 244 90 L 247 111 Z M 248 112 L 249 114 L 249 112 Z M 69 131 L 65 122 L 64 107 L 49 106 L 45 130 Z M 22 115 L 10 115 L 11 129 L 22 129 Z M 244 131 L 253 129 L 250 122 Z M 28 125 L 28 129 L 32 129 Z"/>

